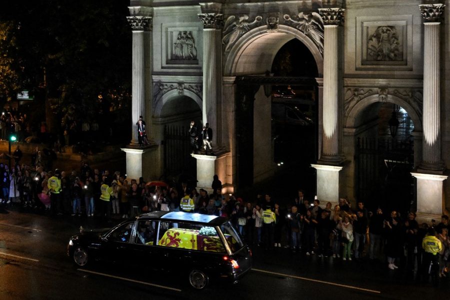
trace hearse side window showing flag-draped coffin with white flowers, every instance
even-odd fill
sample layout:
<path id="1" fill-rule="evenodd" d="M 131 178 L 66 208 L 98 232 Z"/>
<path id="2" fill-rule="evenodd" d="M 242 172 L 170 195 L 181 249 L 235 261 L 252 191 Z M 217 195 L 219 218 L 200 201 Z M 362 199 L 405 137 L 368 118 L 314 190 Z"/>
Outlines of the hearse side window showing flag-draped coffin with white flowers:
<path id="1" fill-rule="evenodd" d="M 158 246 L 225 253 L 214 227 L 176 222 L 160 222 Z"/>

